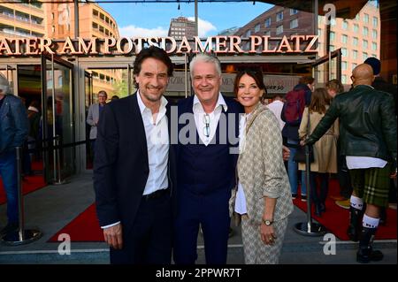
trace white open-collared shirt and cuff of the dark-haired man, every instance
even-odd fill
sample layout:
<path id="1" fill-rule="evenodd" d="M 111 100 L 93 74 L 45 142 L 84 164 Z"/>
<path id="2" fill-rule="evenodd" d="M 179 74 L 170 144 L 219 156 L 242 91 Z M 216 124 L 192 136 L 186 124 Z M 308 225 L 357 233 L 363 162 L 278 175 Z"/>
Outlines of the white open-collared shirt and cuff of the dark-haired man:
<path id="1" fill-rule="evenodd" d="M 149 176 L 143 194 L 151 194 L 169 186 L 169 180 L 167 179 L 169 132 L 167 116 L 165 115 L 167 100 L 162 96 L 156 121 L 153 120 L 152 111 L 142 102 L 140 91 L 137 91 L 137 100 L 142 115 L 143 126 L 145 128 L 149 162 Z M 119 225 L 119 223 L 120 222 L 116 222 L 111 225 L 101 226 L 101 228 L 109 228 L 114 225 Z"/>

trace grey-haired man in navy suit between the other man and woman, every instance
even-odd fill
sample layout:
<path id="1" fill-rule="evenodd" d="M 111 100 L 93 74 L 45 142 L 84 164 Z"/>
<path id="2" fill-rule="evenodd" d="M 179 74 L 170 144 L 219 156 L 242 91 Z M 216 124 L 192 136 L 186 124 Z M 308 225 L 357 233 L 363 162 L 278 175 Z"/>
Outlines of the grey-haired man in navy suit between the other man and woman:
<path id="1" fill-rule="evenodd" d="M 226 263 L 228 200 L 234 185 L 241 105 L 221 95 L 217 57 L 198 54 L 189 65 L 195 95 L 180 100 L 178 197 L 174 262 L 193 264 L 199 225 L 206 263 Z"/>

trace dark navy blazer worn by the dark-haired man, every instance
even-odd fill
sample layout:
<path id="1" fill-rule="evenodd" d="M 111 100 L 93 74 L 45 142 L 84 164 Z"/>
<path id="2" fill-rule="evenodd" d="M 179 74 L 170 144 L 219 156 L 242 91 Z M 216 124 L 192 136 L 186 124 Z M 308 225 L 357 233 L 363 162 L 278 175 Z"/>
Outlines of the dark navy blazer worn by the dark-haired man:
<path id="1" fill-rule="evenodd" d="M 166 106 L 170 136 L 170 105 Z M 104 106 L 98 124 L 94 160 L 96 213 L 101 226 L 134 224 L 149 176 L 147 140 L 137 93 Z M 175 184 L 175 156 L 169 146 L 168 180 Z"/>

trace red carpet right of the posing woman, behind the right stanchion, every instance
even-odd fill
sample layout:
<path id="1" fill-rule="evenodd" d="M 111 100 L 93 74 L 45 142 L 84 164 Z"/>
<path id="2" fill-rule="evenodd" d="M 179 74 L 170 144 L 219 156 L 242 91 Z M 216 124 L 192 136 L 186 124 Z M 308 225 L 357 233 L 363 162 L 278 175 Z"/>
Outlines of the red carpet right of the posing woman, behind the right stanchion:
<path id="1" fill-rule="evenodd" d="M 337 179 L 330 179 L 329 197 L 325 203 L 326 211 L 322 214 L 322 217 L 315 217 L 314 207 L 312 206 L 312 218 L 324 225 L 329 232 L 332 232 L 340 240 L 348 240 L 346 231 L 348 228 L 349 211 L 341 209 L 330 198 L 331 195 L 339 195 L 339 192 L 340 187 Z M 307 202 L 302 202 L 300 196 L 293 200 L 293 202 L 300 210 L 307 211 Z M 396 210 L 387 209 L 387 225 L 379 226 L 375 239 L 396 239 Z"/>

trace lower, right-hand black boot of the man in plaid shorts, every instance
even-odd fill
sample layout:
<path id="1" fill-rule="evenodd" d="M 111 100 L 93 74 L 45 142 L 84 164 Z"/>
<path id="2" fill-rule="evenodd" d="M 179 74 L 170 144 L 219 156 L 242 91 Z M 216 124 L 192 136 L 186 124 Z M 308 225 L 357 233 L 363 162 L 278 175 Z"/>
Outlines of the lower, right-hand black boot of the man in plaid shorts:
<path id="1" fill-rule="evenodd" d="M 358 263 L 369 263 L 379 262 L 383 259 L 383 253 L 379 250 L 373 250 L 371 244 L 373 242 L 374 235 L 378 228 L 362 227 L 361 238 L 359 240 L 359 249 L 356 253 L 356 262 Z"/>

